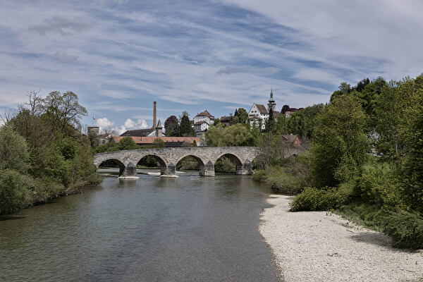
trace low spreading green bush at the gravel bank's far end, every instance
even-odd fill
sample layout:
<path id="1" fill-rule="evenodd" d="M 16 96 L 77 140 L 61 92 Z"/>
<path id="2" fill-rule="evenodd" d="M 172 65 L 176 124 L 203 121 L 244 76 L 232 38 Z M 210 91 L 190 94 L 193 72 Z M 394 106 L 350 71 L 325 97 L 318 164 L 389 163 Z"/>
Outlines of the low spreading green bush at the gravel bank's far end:
<path id="1" fill-rule="evenodd" d="M 342 204 L 346 204 L 349 198 L 349 185 L 341 185 L 340 188 L 305 188 L 290 203 L 290 212 L 338 209 Z"/>

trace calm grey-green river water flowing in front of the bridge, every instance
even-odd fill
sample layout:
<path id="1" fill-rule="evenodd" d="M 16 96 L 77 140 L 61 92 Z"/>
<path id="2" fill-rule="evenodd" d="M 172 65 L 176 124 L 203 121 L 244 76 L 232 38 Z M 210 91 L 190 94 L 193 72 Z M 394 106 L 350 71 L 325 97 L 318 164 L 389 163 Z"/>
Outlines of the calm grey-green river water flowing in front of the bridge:
<path id="1" fill-rule="evenodd" d="M 104 175 L 0 216 L 0 281 L 279 281 L 258 233 L 271 190 L 250 176 Z"/>

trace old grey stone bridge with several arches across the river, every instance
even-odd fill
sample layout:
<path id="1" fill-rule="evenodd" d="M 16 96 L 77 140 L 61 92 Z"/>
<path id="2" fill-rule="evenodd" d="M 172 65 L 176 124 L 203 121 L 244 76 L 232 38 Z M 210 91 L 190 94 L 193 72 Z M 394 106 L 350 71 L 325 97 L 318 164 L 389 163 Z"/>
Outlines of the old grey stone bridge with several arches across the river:
<path id="1" fill-rule="evenodd" d="M 94 154 L 93 159 L 96 167 L 103 161 L 114 160 L 120 167 L 120 178 L 137 178 L 137 163 L 145 156 L 152 156 L 159 161 L 162 176 L 175 176 L 178 161 L 191 156 L 200 165 L 200 176 L 214 176 L 214 164 L 223 155 L 235 161 L 236 174 L 252 174 L 251 163 L 258 154 L 258 147 L 187 147 L 105 152 Z"/>

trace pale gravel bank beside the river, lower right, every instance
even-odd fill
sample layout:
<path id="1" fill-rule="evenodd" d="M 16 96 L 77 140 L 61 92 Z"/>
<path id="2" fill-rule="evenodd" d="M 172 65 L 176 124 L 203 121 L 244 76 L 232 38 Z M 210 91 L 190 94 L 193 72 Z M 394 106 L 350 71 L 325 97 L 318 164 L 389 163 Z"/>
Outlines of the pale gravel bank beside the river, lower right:
<path id="1" fill-rule="evenodd" d="M 286 282 L 423 281 L 423 250 L 393 248 L 387 235 L 330 212 L 288 212 L 290 199 L 271 195 L 259 226 Z"/>

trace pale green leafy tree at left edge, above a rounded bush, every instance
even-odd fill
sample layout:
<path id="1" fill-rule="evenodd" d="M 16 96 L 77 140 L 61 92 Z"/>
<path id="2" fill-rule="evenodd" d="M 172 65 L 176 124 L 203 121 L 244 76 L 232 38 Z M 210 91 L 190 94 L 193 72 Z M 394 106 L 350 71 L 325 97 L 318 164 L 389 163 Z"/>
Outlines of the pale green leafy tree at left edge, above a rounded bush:
<path id="1" fill-rule="evenodd" d="M 27 142 L 7 123 L 0 128 L 0 171 L 13 169 L 27 173 L 30 161 Z"/>

